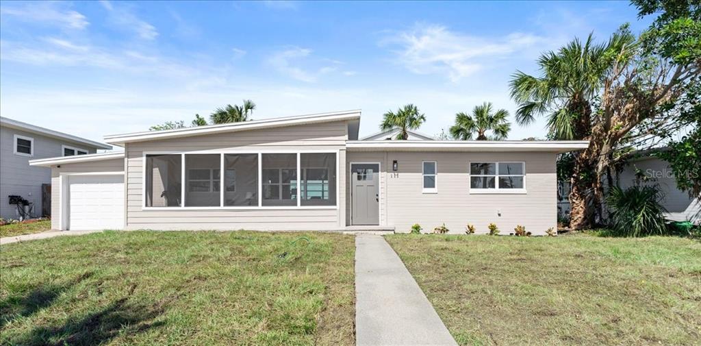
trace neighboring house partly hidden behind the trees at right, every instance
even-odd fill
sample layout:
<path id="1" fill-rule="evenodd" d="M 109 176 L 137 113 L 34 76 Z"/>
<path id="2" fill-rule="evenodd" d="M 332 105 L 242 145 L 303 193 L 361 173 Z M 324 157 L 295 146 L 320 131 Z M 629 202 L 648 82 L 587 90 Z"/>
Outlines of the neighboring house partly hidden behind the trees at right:
<path id="1" fill-rule="evenodd" d="M 692 198 L 677 188 L 674 173 L 667 161 L 649 153 L 639 152 L 634 159 L 630 159 L 620 173 L 613 174 L 613 182 L 622 189 L 634 185 L 658 185 L 668 220 L 701 222 L 701 199 Z M 561 215 L 569 214 L 568 196 L 569 184 L 561 182 L 558 189 L 558 212 Z"/>

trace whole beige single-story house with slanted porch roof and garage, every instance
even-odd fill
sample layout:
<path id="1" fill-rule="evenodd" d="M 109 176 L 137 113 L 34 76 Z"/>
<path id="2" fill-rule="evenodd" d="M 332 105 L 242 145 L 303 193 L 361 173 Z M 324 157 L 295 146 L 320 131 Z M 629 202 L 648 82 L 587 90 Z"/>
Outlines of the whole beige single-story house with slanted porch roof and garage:
<path id="1" fill-rule="evenodd" d="M 358 140 L 360 111 L 108 135 L 50 167 L 55 229 L 556 227 L 557 154 L 585 141 Z"/>

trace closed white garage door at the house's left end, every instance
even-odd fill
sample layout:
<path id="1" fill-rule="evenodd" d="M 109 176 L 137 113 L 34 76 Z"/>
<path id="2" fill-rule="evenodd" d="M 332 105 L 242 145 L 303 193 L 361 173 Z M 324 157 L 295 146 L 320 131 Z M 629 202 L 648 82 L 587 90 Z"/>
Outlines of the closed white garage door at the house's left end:
<path id="1" fill-rule="evenodd" d="M 72 175 L 68 183 L 68 229 L 124 227 L 123 175 Z"/>

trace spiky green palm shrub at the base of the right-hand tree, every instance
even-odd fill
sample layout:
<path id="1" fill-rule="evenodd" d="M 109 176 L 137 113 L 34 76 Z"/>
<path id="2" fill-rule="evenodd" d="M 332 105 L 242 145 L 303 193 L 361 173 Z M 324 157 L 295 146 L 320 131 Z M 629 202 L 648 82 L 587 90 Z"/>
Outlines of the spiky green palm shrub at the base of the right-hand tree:
<path id="1" fill-rule="evenodd" d="M 612 187 L 606 203 L 613 232 L 622 237 L 665 233 L 665 207 L 657 185 Z"/>

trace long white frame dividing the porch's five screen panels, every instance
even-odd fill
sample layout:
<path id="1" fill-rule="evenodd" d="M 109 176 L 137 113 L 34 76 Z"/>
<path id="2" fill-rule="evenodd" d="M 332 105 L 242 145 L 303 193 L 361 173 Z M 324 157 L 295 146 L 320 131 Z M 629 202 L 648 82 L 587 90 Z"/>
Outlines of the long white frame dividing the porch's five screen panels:
<path id="1" fill-rule="evenodd" d="M 219 154 L 221 155 L 220 159 L 220 165 L 219 168 L 222 169 L 224 168 L 224 154 L 258 154 L 258 204 L 257 206 L 224 206 L 224 180 L 222 180 L 222 171 L 220 171 L 220 187 L 219 187 L 219 192 L 221 193 L 220 195 L 220 202 L 219 206 L 185 206 L 185 192 L 187 189 L 187 181 L 185 179 L 185 155 L 186 154 Z M 297 206 L 263 206 L 263 154 L 297 154 Z M 299 192 L 299 185 L 300 185 L 300 180 L 301 180 L 301 174 L 299 171 L 301 170 L 300 168 L 300 156 L 301 154 L 335 154 L 336 155 L 336 203 L 334 206 L 301 206 L 301 194 Z M 340 160 L 341 160 L 341 150 L 340 149 L 335 149 L 335 150 L 290 150 L 290 149 L 280 149 L 280 150 L 259 150 L 259 151 L 250 151 L 250 150 L 243 150 L 243 151 L 237 151 L 237 150 L 198 150 L 198 151 L 193 151 L 193 152 L 170 152 L 170 151 L 154 151 L 154 152 L 142 152 L 142 169 L 145 170 L 146 168 L 146 161 L 147 161 L 147 156 L 148 155 L 181 155 L 181 181 L 182 181 L 182 187 L 180 189 L 182 196 L 180 198 L 181 200 L 181 205 L 180 206 L 146 206 L 146 172 L 143 172 L 142 174 L 142 201 L 141 201 L 141 209 L 143 211 L 149 211 L 149 210 L 259 210 L 259 209 L 336 209 L 339 210 L 341 202 L 341 191 L 340 191 L 340 186 L 341 184 L 339 183 L 339 180 L 341 179 L 341 174 L 340 174 Z"/>

